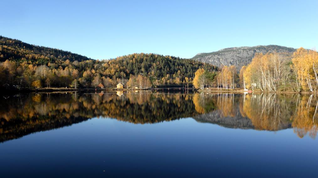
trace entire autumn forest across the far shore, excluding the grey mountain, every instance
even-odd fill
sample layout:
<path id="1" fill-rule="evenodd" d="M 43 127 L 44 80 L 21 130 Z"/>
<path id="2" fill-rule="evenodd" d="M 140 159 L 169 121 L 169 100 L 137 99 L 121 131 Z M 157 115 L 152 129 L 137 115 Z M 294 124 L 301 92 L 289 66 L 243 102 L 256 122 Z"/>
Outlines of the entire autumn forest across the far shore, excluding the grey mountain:
<path id="1" fill-rule="evenodd" d="M 258 53 L 247 66 L 216 67 L 190 59 L 158 54 L 131 54 L 93 60 L 59 49 L 30 45 L 0 36 L 0 87 L 147 89 L 166 84 L 193 84 L 199 90 L 317 92 L 315 50 Z"/>

